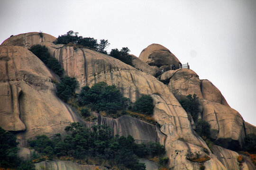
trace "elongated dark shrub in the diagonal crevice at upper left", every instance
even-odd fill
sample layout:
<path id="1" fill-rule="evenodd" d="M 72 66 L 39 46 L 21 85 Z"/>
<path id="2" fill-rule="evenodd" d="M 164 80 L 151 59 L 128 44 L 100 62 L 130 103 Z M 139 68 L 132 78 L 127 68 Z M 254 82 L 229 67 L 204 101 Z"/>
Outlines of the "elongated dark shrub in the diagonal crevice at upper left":
<path id="1" fill-rule="evenodd" d="M 50 56 L 50 53 L 45 45 L 33 45 L 28 50 L 33 52 L 39 59 L 41 59 L 55 74 L 62 76 L 64 69 L 61 68 L 61 65 L 57 59 Z"/>

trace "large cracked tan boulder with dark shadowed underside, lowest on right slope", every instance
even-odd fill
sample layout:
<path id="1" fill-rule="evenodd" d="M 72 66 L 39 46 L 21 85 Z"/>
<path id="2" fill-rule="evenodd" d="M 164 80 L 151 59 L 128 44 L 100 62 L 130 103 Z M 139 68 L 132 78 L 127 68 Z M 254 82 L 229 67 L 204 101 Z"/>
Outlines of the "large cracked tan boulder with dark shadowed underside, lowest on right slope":
<path id="1" fill-rule="evenodd" d="M 202 119 L 210 123 L 210 136 L 217 144 L 230 149 L 238 149 L 245 137 L 244 120 L 234 109 L 220 103 L 201 102 Z"/>

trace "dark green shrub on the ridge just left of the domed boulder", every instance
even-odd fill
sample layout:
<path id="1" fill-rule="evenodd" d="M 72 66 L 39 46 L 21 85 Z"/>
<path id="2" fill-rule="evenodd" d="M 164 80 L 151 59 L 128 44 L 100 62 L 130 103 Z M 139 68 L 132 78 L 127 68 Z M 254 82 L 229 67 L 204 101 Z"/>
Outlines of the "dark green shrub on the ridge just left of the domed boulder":
<path id="1" fill-rule="evenodd" d="M 133 66 L 129 51 L 130 50 L 127 47 L 123 47 L 120 51 L 118 49 L 112 49 L 110 51 L 110 56 L 119 59 L 130 66 Z"/>

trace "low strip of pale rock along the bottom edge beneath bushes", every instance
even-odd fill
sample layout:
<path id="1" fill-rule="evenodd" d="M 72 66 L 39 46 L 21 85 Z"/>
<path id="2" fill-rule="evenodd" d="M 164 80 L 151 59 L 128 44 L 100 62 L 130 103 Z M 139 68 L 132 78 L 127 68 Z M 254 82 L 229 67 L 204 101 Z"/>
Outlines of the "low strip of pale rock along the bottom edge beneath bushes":
<path id="1" fill-rule="evenodd" d="M 98 167 L 100 170 L 109 170 L 103 166 L 96 165 L 80 165 L 72 161 L 42 161 L 35 163 L 36 170 L 95 170 Z"/>

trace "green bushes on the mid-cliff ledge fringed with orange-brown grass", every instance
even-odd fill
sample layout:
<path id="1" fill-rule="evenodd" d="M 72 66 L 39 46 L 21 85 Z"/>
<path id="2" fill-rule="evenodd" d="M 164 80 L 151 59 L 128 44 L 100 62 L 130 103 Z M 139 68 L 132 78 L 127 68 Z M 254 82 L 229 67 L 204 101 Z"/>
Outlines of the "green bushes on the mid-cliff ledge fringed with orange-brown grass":
<path id="1" fill-rule="evenodd" d="M 153 99 L 149 95 L 142 95 L 134 104 L 129 98 L 123 97 L 115 85 L 107 85 L 99 82 L 93 86 L 82 87 L 77 102 L 81 115 L 86 118 L 90 116 L 88 108 L 100 112 L 101 116 L 118 118 L 122 115 L 129 115 L 142 119 L 148 123 L 156 124 L 155 119 L 150 115 L 153 113 Z M 84 110 L 84 108 L 87 108 Z M 133 110 L 133 111 L 131 111 Z"/>

